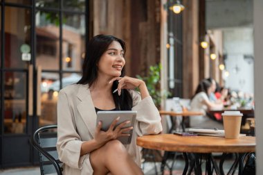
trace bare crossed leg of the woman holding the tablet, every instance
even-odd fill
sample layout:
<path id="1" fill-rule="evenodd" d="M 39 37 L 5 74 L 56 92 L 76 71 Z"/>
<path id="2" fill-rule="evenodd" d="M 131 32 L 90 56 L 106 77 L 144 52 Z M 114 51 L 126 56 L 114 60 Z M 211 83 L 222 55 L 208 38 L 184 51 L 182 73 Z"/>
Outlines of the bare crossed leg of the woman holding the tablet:
<path id="1" fill-rule="evenodd" d="M 92 151 L 90 154 L 91 166 L 93 174 L 143 174 L 142 170 L 134 160 L 131 159 L 125 147 L 118 140 L 107 142 L 100 149 Z"/>

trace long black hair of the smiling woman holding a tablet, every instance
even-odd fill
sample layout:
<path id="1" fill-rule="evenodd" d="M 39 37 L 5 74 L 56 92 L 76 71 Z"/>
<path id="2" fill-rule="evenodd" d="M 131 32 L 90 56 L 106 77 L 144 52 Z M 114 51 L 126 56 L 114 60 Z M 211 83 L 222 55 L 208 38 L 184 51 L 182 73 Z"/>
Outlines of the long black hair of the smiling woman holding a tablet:
<path id="1" fill-rule="evenodd" d="M 103 53 L 105 53 L 105 51 L 109 48 L 109 45 L 114 41 L 120 43 L 125 56 L 126 44 L 119 38 L 112 35 L 96 35 L 89 40 L 86 57 L 82 65 L 82 78 L 80 78 L 80 81 L 78 81 L 77 84 L 89 84 L 89 87 L 91 87 L 91 85 L 96 82 L 98 78 L 98 62 L 100 61 Z M 120 76 L 125 76 L 125 66 L 123 67 Z M 114 91 L 117 87 L 118 81 L 114 81 L 111 90 Z M 118 96 L 118 93 L 114 93 L 113 96 L 115 106 L 118 110 L 131 110 L 132 98 L 128 90 L 122 90 L 120 96 Z"/>

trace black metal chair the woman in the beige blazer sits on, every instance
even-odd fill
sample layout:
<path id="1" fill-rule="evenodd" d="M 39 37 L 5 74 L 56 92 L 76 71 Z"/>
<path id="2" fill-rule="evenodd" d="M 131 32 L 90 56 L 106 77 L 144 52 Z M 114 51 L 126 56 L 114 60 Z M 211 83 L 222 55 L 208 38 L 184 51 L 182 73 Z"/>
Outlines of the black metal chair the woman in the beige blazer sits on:
<path id="1" fill-rule="evenodd" d="M 31 144 L 39 152 L 40 172 L 62 175 L 62 162 L 57 154 L 57 125 L 43 126 L 32 135 Z"/>

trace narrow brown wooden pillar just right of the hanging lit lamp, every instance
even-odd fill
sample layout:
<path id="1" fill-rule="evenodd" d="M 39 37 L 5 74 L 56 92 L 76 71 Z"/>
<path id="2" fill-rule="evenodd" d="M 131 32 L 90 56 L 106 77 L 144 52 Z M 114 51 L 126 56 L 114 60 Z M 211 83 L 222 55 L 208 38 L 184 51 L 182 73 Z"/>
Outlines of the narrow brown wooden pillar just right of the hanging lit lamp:
<path id="1" fill-rule="evenodd" d="M 198 1 L 183 1 L 183 98 L 191 98 L 199 83 Z"/>

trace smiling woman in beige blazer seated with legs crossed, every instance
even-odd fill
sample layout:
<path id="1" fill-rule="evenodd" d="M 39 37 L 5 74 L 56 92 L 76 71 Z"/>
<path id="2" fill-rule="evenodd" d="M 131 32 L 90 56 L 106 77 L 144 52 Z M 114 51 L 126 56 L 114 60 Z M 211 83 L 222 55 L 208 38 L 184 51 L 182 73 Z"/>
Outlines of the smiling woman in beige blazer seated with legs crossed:
<path id="1" fill-rule="evenodd" d="M 162 131 L 161 117 L 145 83 L 125 76 L 125 42 L 111 35 L 89 41 L 82 78 L 60 90 L 57 102 L 57 151 L 64 174 L 143 174 L 136 137 Z M 138 88 L 140 93 L 134 91 Z M 118 93 L 113 93 L 118 89 Z M 98 110 L 136 110 L 131 144 L 116 138 L 125 135 L 125 122 L 108 131 L 96 126 Z"/>

